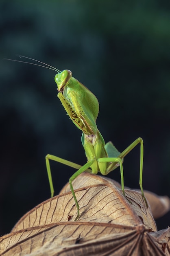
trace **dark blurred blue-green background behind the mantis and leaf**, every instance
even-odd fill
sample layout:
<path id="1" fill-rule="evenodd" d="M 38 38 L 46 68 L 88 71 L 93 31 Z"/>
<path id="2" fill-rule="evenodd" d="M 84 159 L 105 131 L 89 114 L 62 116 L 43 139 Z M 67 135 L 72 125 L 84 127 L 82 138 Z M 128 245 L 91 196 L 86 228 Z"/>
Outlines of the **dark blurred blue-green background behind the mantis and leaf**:
<path id="1" fill-rule="evenodd" d="M 98 98 L 105 141 L 122 151 L 142 137 L 144 189 L 170 196 L 170 1 L 0 1 L 1 235 L 50 197 L 47 153 L 86 162 L 55 72 L 2 60 L 15 54 L 70 69 Z M 57 195 L 74 169 L 51 168 Z M 138 182 L 139 146 L 124 159 L 125 185 Z M 168 225 L 170 213 L 157 220 Z"/>

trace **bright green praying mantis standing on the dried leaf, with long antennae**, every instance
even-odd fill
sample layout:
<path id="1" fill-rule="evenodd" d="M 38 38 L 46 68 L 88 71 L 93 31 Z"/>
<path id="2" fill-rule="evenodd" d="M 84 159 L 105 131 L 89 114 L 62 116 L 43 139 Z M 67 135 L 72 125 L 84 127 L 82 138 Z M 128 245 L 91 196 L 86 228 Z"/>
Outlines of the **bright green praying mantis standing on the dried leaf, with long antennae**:
<path id="1" fill-rule="evenodd" d="M 20 57 L 28 58 L 25 56 L 20 56 Z M 32 58 L 28 58 L 28 59 L 37 61 Z M 25 61 L 18 61 L 18 62 L 38 65 L 30 62 L 25 62 Z M 125 196 L 123 165 L 122 165 L 123 158 L 135 146 L 137 146 L 137 144 L 140 144 L 139 186 L 140 186 L 142 197 L 144 199 L 146 207 L 148 207 L 146 198 L 144 196 L 143 187 L 142 187 L 143 155 L 144 155 L 142 138 L 140 137 L 137 138 L 122 153 L 120 153 L 115 148 L 115 146 L 113 146 L 111 141 L 105 144 L 105 141 L 96 125 L 96 119 L 98 117 L 98 112 L 99 112 L 99 103 L 96 96 L 90 90 L 88 90 L 82 83 L 76 80 L 72 76 L 72 72 L 70 70 L 63 70 L 61 72 L 60 70 L 50 65 L 47 65 L 46 63 L 43 63 L 41 61 L 37 61 L 37 62 L 43 64 L 38 66 L 46 67 L 57 72 L 57 74 L 54 77 L 54 81 L 57 83 L 57 90 L 58 90 L 57 96 L 60 99 L 70 119 L 73 121 L 76 127 L 82 130 L 83 132 L 81 141 L 87 157 L 87 163 L 81 166 L 79 164 L 75 164 L 73 162 L 67 161 L 60 157 L 56 157 L 54 155 L 50 155 L 50 154 L 46 155 L 46 167 L 47 167 L 47 173 L 48 173 L 48 180 L 50 184 L 51 197 L 53 197 L 54 195 L 54 187 L 52 182 L 52 175 L 51 175 L 49 160 L 60 162 L 62 164 L 68 165 L 78 170 L 69 179 L 70 190 L 72 192 L 72 195 L 77 207 L 77 216 L 75 218 L 75 221 L 78 220 L 80 216 L 80 207 L 76 199 L 72 182 L 81 173 L 86 171 L 93 174 L 97 174 L 99 172 L 102 175 L 107 175 L 108 173 L 116 169 L 118 166 L 120 166 L 121 187 L 122 187 L 122 193 Z"/>

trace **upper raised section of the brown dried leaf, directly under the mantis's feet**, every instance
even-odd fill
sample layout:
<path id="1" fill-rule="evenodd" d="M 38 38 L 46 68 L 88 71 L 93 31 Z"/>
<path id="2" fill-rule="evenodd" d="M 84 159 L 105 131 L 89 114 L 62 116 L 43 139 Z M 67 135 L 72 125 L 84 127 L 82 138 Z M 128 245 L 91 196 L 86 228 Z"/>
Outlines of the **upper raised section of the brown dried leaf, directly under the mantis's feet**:
<path id="1" fill-rule="evenodd" d="M 79 175 L 73 186 L 74 184 L 83 186 L 83 188 L 75 189 L 81 214 L 78 221 L 106 222 L 131 227 L 144 223 L 149 229 L 157 231 L 150 209 L 146 209 L 140 193 L 125 191 L 131 204 L 112 182 L 89 173 Z M 72 193 L 67 192 L 42 202 L 26 213 L 17 222 L 12 232 L 55 222 L 65 222 L 68 218 L 74 221 L 76 215 L 77 209 Z"/>

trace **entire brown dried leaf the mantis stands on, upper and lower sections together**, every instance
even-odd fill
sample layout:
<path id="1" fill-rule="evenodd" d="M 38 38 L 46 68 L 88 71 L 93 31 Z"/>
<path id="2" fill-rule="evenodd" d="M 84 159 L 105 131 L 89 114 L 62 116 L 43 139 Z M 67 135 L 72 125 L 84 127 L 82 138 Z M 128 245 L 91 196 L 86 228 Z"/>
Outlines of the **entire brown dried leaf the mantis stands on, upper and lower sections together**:
<path id="1" fill-rule="evenodd" d="M 73 186 L 77 222 L 66 185 L 63 194 L 26 213 L 0 238 L 0 256 L 170 256 L 170 229 L 153 232 L 155 222 L 139 192 L 127 189 L 125 198 L 113 182 L 88 173 Z"/>

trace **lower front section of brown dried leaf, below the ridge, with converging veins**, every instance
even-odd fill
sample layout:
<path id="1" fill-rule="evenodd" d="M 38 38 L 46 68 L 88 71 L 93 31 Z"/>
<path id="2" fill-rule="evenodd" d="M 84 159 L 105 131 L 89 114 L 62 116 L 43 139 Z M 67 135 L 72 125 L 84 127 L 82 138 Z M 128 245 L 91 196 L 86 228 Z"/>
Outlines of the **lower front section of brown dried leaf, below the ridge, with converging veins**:
<path id="1" fill-rule="evenodd" d="M 61 222 L 0 238 L 0 256 L 169 256 L 170 229 L 149 233 L 143 224 Z"/>

